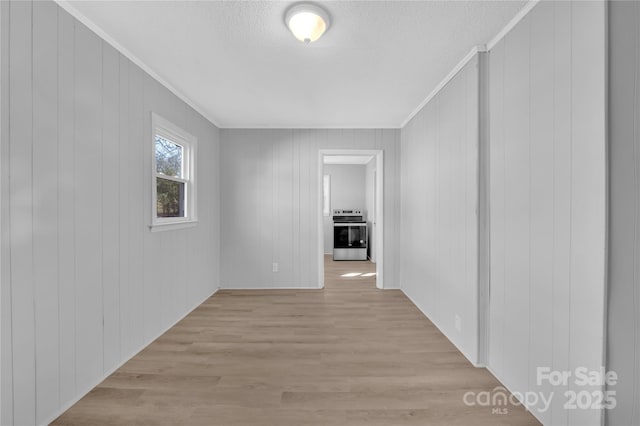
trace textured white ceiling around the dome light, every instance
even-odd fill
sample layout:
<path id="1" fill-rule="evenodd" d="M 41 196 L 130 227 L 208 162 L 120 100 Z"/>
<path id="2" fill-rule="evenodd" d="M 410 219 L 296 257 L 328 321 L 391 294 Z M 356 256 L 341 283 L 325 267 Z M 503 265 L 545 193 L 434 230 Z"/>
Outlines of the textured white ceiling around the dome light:
<path id="1" fill-rule="evenodd" d="M 324 1 L 315 43 L 283 1 L 70 1 L 221 127 L 399 127 L 526 1 Z"/>

